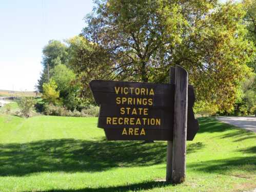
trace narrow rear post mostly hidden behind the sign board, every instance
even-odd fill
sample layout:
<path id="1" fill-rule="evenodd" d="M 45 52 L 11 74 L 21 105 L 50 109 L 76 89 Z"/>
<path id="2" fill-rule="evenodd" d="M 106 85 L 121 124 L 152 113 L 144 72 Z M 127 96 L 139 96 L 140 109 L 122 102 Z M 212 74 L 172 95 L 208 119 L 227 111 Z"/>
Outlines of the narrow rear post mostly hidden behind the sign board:
<path id="1" fill-rule="evenodd" d="M 175 83 L 175 68 L 171 67 L 169 71 L 169 83 Z M 173 118 L 173 117 L 171 117 Z M 167 141 L 167 156 L 166 156 L 166 182 L 171 182 L 172 178 L 172 141 Z"/>

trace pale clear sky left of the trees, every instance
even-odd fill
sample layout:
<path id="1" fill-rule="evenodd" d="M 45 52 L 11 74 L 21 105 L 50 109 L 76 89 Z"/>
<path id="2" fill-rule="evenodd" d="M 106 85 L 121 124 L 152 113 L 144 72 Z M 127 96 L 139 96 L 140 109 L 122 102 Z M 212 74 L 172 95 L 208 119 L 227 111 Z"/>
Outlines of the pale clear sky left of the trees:
<path id="1" fill-rule="evenodd" d="M 92 0 L 23 0 L 0 3 L 0 90 L 33 91 L 50 39 L 81 32 Z"/>

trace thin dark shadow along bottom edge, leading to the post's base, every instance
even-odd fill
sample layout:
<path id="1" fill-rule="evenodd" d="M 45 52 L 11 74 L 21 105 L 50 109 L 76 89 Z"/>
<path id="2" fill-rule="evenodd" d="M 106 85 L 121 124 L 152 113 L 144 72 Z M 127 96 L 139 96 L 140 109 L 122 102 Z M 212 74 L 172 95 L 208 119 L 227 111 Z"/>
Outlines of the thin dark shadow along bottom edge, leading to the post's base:
<path id="1" fill-rule="evenodd" d="M 156 187 L 164 187 L 171 184 L 168 184 L 163 181 L 146 181 L 143 183 L 135 183 L 121 186 L 106 186 L 99 188 L 82 188 L 82 189 L 53 189 L 53 190 L 45 190 L 42 192 L 105 192 L 105 191 L 138 191 L 138 190 L 149 190 Z M 24 191 L 25 192 L 25 191 Z M 28 192 L 28 191 L 26 191 Z"/>

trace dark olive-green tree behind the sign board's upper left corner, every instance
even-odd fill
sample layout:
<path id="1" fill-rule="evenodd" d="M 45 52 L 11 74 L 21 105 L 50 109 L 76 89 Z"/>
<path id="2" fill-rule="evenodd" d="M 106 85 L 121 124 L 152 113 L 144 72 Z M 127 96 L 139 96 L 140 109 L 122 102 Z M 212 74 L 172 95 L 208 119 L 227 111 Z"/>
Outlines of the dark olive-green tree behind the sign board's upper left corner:
<path id="1" fill-rule="evenodd" d="M 76 74 L 76 84 L 80 86 L 80 94 L 92 103 L 93 97 L 89 89 L 92 79 L 105 79 L 112 76 L 109 71 L 111 60 L 109 53 L 83 36 L 75 36 L 67 40 L 69 45 L 69 67 Z"/>

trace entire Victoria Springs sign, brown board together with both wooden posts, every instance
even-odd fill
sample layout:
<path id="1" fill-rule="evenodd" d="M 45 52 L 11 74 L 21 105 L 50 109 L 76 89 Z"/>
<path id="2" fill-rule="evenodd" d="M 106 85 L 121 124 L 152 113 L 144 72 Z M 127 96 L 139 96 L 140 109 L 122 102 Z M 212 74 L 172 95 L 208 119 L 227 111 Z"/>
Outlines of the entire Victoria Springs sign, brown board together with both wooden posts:
<path id="1" fill-rule="evenodd" d="M 185 181 L 186 141 L 199 130 L 185 69 L 171 67 L 169 83 L 92 80 L 90 88 L 107 140 L 167 141 L 166 181 Z"/>

